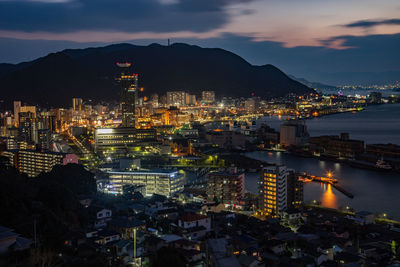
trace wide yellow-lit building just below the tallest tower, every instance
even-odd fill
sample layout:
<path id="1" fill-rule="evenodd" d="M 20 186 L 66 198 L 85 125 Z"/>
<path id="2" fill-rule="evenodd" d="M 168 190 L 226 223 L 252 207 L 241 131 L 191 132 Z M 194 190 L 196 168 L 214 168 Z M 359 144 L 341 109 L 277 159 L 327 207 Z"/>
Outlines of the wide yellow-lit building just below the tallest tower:
<path id="1" fill-rule="evenodd" d="M 95 152 L 103 156 L 126 156 L 135 149 L 156 141 L 154 129 L 97 128 L 95 130 Z"/>

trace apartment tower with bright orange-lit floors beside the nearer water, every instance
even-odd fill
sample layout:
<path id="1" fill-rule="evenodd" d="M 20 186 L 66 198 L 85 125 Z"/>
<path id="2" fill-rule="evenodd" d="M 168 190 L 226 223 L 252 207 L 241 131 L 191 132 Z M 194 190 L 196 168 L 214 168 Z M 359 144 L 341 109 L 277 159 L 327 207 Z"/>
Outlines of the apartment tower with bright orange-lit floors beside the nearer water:
<path id="1" fill-rule="evenodd" d="M 268 166 L 260 173 L 260 209 L 267 215 L 278 216 L 287 209 L 287 179 L 285 166 Z"/>

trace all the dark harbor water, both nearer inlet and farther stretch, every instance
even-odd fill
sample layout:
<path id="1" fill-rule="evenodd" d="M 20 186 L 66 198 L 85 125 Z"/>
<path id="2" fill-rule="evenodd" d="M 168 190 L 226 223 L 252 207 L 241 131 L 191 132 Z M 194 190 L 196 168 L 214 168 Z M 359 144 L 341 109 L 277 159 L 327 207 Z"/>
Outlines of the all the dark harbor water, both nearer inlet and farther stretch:
<path id="1" fill-rule="evenodd" d="M 282 120 L 266 118 L 268 124 L 279 130 Z M 367 144 L 400 144 L 400 104 L 367 107 L 362 112 L 342 113 L 307 120 L 311 136 L 338 135 L 350 133 L 351 139 L 364 140 Z M 286 165 L 288 168 L 313 175 L 324 176 L 328 171 L 347 191 L 354 195 L 350 199 L 331 186 L 320 183 L 307 183 L 304 186 L 304 200 L 317 200 L 325 207 L 343 208 L 350 206 L 356 210 L 387 213 L 400 219 L 400 174 L 384 173 L 350 167 L 346 164 L 314 158 L 303 158 L 283 152 L 257 151 L 245 154 L 247 157 L 268 163 Z M 257 192 L 258 174 L 249 173 L 246 189 Z"/>

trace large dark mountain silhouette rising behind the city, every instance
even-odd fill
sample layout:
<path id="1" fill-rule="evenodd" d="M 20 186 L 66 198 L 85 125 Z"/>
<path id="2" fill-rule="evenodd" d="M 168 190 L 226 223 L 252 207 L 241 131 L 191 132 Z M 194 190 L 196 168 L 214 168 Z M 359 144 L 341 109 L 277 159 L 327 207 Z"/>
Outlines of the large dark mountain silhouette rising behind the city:
<path id="1" fill-rule="evenodd" d="M 115 77 L 118 61 L 133 63 L 145 94 L 186 90 L 217 96 L 279 97 L 311 92 L 272 65 L 253 66 L 218 48 L 187 44 L 136 46 L 116 44 L 99 48 L 67 49 L 31 62 L 0 64 L 0 100 L 21 99 L 46 106 L 66 106 L 72 97 L 94 101 L 119 100 Z"/>

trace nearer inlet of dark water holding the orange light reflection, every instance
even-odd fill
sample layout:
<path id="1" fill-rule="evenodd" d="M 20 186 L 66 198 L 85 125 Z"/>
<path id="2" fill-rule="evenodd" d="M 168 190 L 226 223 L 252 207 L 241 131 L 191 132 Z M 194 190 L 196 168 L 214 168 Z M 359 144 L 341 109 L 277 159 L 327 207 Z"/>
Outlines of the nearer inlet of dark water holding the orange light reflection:
<path id="1" fill-rule="evenodd" d="M 387 213 L 400 219 L 400 175 L 357 169 L 345 164 L 323 161 L 313 158 L 302 158 L 283 152 L 255 151 L 245 154 L 247 157 L 268 163 L 285 165 L 288 168 L 313 175 L 326 175 L 333 172 L 339 184 L 354 194 L 348 198 L 331 186 L 321 183 L 304 184 L 304 201 L 320 201 L 328 208 L 352 207 L 357 211 L 367 210 L 374 213 Z M 246 190 L 257 193 L 258 174 L 246 174 Z"/>

